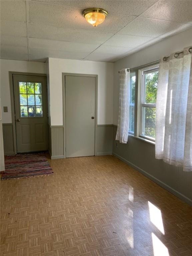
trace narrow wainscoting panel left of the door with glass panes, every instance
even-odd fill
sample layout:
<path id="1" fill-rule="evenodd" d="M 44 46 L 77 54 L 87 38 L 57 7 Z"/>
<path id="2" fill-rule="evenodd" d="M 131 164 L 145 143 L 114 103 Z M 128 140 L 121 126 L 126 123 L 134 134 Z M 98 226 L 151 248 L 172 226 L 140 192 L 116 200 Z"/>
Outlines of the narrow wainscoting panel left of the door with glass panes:
<path id="1" fill-rule="evenodd" d="M 14 155 L 13 124 L 2 124 L 4 155 Z"/>

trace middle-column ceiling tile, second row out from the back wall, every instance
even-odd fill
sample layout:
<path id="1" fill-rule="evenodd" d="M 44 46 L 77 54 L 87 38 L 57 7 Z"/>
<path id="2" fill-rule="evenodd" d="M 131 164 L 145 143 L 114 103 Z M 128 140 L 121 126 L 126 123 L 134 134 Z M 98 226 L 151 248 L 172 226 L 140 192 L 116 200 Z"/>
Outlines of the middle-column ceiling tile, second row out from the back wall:
<path id="1" fill-rule="evenodd" d="M 29 47 L 38 49 L 49 49 L 67 52 L 92 52 L 99 45 L 97 44 L 83 44 L 74 42 L 54 41 L 47 39 L 29 38 Z"/>

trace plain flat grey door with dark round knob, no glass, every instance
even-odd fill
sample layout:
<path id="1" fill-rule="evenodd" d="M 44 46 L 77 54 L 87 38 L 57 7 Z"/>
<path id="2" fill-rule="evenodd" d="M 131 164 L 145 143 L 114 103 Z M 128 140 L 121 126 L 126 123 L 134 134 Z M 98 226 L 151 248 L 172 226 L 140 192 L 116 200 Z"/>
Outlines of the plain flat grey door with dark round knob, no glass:
<path id="1" fill-rule="evenodd" d="M 65 76 L 66 157 L 95 155 L 95 80 Z"/>

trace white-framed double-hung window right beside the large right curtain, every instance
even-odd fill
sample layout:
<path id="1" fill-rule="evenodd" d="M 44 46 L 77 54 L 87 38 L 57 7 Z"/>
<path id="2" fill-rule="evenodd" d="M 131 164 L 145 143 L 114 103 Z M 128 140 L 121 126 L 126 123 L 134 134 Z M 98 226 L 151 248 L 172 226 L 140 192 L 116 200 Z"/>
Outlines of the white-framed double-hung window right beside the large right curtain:
<path id="1" fill-rule="evenodd" d="M 141 70 L 140 137 L 155 141 L 158 66 Z"/>

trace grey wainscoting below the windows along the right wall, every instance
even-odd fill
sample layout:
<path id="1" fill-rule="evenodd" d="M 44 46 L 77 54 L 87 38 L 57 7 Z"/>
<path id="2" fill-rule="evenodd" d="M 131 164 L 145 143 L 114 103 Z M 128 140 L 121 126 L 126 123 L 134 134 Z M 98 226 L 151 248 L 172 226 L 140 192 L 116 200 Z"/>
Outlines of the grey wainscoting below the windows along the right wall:
<path id="1" fill-rule="evenodd" d="M 127 144 L 117 143 L 113 126 L 113 155 L 132 166 L 172 194 L 192 205 L 192 172 L 155 159 L 155 145 L 129 136 Z"/>

